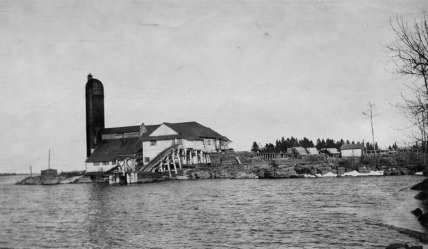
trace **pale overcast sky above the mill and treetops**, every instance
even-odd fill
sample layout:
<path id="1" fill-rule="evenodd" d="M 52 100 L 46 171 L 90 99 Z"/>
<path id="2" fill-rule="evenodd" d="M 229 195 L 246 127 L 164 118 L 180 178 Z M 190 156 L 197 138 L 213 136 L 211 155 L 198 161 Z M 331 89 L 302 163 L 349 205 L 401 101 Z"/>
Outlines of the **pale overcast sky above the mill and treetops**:
<path id="1" fill-rule="evenodd" d="M 197 121 L 249 150 L 281 137 L 406 137 L 391 17 L 428 1 L 0 0 L 0 172 L 84 170 L 85 84 L 106 127 Z"/>

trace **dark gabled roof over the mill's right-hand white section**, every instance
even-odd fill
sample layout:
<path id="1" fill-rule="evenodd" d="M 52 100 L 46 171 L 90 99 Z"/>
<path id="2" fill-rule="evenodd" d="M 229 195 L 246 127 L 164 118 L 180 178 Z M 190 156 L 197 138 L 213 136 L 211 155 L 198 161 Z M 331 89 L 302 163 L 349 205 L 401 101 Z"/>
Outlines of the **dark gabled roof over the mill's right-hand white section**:
<path id="1" fill-rule="evenodd" d="M 184 139 L 193 141 L 193 140 L 202 140 L 204 138 L 208 138 L 208 139 L 221 139 L 224 141 L 230 141 L 227 137 L 224 137 L 218 134 L 211 128 L 202 126 L 202 124 L 197 122 L 164 123 L 164 124 L 169 128 L 175 130 L 175 132 L 177 132 L 178 135 L 150 136 L 150 134 L 153 131 L 155 131 L 159 126 L 161 126 L 161 125 L 156 125 L 157 126 L 156 128 L 154 128 L 151 131 L 149 131 L 148 129 L 148 132 L 144 133 L 144 135 L 142 136 L 142 140 L 149 141 L 149 140 L 184 138 Z"/>

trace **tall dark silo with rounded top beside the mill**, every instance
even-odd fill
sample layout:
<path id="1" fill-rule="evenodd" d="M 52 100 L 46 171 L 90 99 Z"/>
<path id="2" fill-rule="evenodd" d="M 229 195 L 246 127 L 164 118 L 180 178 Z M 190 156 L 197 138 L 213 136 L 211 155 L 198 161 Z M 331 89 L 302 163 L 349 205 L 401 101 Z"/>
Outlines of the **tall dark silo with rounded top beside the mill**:
<path id="1" fill-rule="evenodd" d="M 104 130 L 104 87 L 88 74 L 86 83 L 86 157 L 101 141 Z"/>

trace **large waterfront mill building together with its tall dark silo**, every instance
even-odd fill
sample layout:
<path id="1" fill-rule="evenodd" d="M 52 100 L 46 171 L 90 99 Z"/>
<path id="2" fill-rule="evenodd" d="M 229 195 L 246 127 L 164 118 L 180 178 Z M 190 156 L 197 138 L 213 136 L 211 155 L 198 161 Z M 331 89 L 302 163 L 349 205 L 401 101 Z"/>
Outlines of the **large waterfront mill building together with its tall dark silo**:
<path id="1" fill-rule="evenodd" d="M 128 158 L 132 166 L 136 161 L 147 165 L 176 145 L 180 145 L 183 164 L 207 162 L 208 153 L 228 150 L 231 142 L 197 122 L 104 128 L 104 88 L 90 74 L 86 83 L 86 138 L 88 172 L 110 170 L 119 157 Z"/>

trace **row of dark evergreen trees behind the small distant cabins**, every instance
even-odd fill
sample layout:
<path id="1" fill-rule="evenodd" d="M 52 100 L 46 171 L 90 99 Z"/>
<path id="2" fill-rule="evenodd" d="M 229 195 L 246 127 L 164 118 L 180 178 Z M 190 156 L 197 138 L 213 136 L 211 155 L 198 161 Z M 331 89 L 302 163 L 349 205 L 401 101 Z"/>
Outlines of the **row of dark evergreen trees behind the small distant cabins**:
<path id="1" fill-rule="evenodd" d="M 288 148 L 298 147 L 301 146 L 303 148 L 317 148 L 317 150 L 321 150 L 323 148 L 336 148 L 340 149 L 340 147 L 343 144 L 362 144 L 360 141 L 349 141 L 348 139 L 345 141 L 344 139 L 340 139 L 338 141 L 335 141 L 334 139 L 317 139 L 316 143 L 313 143 L 312 140 L 307 139 L 304 137 L 303 139 L 298 139 L 295 137 L 290 137 L 284 139 L 282 137 L 281 139 L 277 139 L 275 141 L 275 144 L 273 143 L 266 143 L 264 146 L 262 146 L 261 143 L 257 143 L 257 141 L 253 142 L 253 145 L 251 146 L 251 151 L 253 152 L 275 152 L 275 153 L 286 153 L 286 150 Z M 374 146 L 372 143 L 367 142 L 364 144 L 364 147 L 366 150 L 379 150 L 378 143 L 375 142 Z M 398 146 L 397 143 L 393 143 L 392 146 L 389 146 L 389 150 L 397 150 Z"/>

